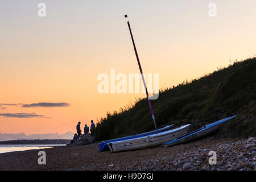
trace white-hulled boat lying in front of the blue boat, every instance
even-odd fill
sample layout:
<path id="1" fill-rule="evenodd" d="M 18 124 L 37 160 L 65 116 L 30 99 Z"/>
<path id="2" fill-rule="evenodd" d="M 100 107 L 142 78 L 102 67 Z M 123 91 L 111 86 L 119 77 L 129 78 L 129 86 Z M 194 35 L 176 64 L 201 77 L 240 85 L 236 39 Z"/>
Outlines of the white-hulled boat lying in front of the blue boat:
<path id="1" fill-rule="evenodd" d="M 167 142 L 170 138 L 175 139 L 187 134 L 189 126 L 190 124 L 144 137 L 109 142 L 108 146 L 112 152 L 137 150 L 140 148 L 158 146 Z"/>

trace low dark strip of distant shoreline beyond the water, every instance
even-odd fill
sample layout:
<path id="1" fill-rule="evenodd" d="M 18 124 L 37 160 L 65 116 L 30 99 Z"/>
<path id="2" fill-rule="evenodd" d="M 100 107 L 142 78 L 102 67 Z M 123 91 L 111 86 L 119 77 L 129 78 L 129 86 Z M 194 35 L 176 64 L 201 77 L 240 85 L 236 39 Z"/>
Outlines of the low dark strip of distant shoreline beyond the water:
<path id="1" fill-rule="evenodd" d="M 33 139 L 33 140 L 7 140 L 7 141 L 1 141 L 1 144 L 68 144 L 71 142 L 70 140 L 67 139 Z"/>

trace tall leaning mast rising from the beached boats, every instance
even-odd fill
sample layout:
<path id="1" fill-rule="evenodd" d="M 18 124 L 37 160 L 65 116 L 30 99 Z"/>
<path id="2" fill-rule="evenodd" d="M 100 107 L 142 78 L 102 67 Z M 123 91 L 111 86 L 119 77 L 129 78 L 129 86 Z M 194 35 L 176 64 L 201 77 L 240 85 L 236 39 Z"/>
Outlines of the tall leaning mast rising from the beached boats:
<path id="1" fill-rule="evenodd" d="M 127 18 L 127 15 L 125 15 L 125 18 Z M 129 30 L 130 30 L 131 41 L 133 42 L 133 48 L 134 48 L 134 52 L 135 52 L 135 55 L 136 55 L 136 58 L 137 58 L 137 62 L 138 62 L 138 65 L 139 65 L 139 71 L 141 72 L 141 77 L 142 77 L 143 85 L 144 85 L 144 88 L 146 90 L 147 102 L 148 102 L 148 105 L 150 107 L 150 112 L 151 112 L 151 115 L 152 115 L 152 119 L 154 121 L 156 133 L 157 133 L 158 132 L 158 128 L 156 127 L 156 123 L 155 123 L 155 115 L 154 115 L 154 112 L 153 112 L 153 108 L 152 108 L 151 102 L 148 99 L 147 86 L 146 86 L 146 82 L 144 80 L 144 76 L 143 76 L 143 72 L 142 72 L 142 68 L 141 68 L 141 63 L 139 62 L 139 56 L 138 56 L 138 52 L 137 52 L 137 49 L 136 49 L 136 46 L 135 46 L 135 43 L 134 43 L 133 34 L 131 33 L 131 27 L 130 27 L 129 20 L 127 20 L 127 24 L 128 24 Z"/>

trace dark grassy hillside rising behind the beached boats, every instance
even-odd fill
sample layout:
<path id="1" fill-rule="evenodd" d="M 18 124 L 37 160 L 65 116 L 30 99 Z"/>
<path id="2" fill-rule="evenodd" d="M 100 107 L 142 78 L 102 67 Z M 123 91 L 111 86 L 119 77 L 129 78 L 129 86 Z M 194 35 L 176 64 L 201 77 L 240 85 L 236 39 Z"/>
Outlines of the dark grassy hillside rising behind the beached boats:
<path id="1" fill-rule="evenodd" d="M 160 90 L 152 100 L 158 127 L 190 123 L 190 130 L 237 115 L 222 125 L 216 137 L 256 134 L 256 57 L 221 68 L 209 75 Z M 154 130 L 146 98 L 108 113 L 97 123 L 96 138 L 105 140 Z"/>

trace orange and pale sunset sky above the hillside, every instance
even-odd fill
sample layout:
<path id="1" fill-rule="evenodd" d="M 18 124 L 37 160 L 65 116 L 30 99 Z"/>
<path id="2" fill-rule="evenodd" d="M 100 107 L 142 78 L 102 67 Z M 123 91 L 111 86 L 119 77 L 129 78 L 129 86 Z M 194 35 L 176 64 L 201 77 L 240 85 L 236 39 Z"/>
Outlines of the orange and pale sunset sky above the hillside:
<path id="1" fill-rule="evenodd" d="M 39 3 L 46 16 L 38 16 Z M 1 1 L 0 133 L 75 133 L 78 121 L 97 123 L 146 97 L 97 90 L 98 75 L 110 69 L 139 73 L 125 14 L 143 72 L 158 73 L 167 88 L 255 56 L 255 7 L 255 0 Z"/>

